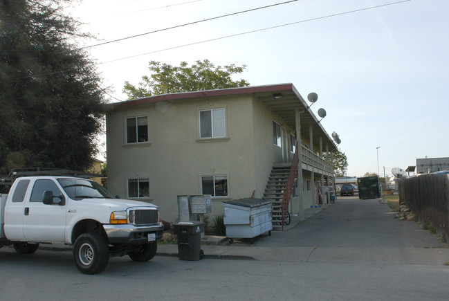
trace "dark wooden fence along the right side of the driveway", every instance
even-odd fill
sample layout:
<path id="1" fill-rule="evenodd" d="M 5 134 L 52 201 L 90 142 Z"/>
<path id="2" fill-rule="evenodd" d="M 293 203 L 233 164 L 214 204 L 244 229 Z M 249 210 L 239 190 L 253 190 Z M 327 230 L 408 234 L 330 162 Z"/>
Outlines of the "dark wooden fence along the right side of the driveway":
<path id="1" fill-rule="evenodd" d="M 426 174 L 402 179 L 399 200 L 423 224 L 431 223 L 449 239 L 449 174 Z"/>

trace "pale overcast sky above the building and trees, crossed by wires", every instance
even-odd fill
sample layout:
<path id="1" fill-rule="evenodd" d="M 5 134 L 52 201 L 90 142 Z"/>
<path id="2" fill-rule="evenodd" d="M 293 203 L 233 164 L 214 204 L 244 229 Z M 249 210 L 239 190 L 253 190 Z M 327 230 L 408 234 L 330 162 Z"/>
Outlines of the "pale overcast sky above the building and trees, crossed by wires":
<path id="1" fill-rule="evenodd" d="M 86 46 L 282 2 L 84 0 L 71 14 L 86 23 L 82 31 L 100 39 Z M 313 112 L 326 109 L 322 125 L 340 135 L 349 176 L 377 172 L 378 165 L 381 175 L 384 166 L 391 175 L 393 167 L 405 170 L 416 158 L 449 156 L 449 1 L 400 2 L 299 0 L 89 52 L 104 86 L 115 89 L 112 101 L 127 99 L 124 82 L 138 84 L 151 60 L 245 64 L 235 80 L 291 82 L 304 99 L 318 94 Z"/>

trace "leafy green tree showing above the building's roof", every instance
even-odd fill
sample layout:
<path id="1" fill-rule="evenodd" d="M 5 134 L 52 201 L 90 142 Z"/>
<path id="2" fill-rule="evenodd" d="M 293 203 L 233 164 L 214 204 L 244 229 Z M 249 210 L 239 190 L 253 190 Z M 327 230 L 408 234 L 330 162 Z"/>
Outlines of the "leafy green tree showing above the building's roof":
<path id="1" fill-rule="evenodd" d="M 201 90 L 237 88 L 249 86 L 246 80 L 232 80 L 232 75 L 242 73 L 246 66 L 214 66 L 209 60 L 196 61 L 188 66 L 181 62 L 179 66 L 149 62 L 150 75 L 144 75 L 142 82 L 134 86 L 125 82 L 123 93 L 130 99 L 145 98 L 153 95 L 180 93 Z"/>

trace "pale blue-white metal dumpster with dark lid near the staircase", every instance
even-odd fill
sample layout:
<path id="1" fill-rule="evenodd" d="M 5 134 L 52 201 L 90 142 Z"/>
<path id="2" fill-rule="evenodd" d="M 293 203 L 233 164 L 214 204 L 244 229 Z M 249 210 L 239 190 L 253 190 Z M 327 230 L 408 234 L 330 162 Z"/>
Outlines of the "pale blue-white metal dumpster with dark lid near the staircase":
<path id="1" fill-rule="evenodd" d="M 268 232 L 271 235 L 271 202 L 262 199 L 237 199 L 223 202 L 226 237 L 253 238 Z"/>

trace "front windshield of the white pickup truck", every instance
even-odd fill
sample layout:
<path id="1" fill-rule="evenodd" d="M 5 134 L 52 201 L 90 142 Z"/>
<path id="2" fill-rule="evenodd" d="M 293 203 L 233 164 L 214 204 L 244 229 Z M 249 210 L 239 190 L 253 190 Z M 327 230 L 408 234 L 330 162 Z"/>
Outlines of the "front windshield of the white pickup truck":
<path id="1" fill-rule="evenodd" d="M 58 179 L 57 181 L 71 199 L 114 199 L 112 194 L 94 181 L 84 179 Z"/>

